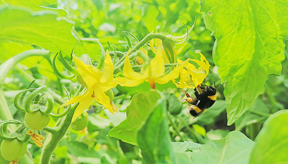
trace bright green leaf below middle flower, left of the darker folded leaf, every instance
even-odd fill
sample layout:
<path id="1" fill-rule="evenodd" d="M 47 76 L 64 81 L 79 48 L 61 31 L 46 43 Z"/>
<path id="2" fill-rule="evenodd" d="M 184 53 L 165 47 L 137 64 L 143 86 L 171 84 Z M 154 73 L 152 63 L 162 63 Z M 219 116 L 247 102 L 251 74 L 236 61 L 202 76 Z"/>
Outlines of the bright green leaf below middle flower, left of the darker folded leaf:
<path id="1" fill-rule="evenodd" d="M 152 107 L 160 98 L 161 96 L 156 90 L 150 90 L 148 95 L 144 93 L 135 94 L 132 97 L 131 104 L 126 108 L 126 120 L 111 129 L 108 136 L 137 145 L 137 132 L 152 112 Z"/>

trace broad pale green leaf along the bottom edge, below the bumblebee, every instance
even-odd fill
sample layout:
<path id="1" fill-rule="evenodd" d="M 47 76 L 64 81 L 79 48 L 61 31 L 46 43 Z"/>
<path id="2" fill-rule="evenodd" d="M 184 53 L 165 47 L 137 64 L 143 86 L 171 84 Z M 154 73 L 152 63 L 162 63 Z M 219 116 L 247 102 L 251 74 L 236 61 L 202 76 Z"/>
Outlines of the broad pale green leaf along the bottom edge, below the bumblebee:
<path id="1" fill-rule="evenodd" d="M 253 145 L 244 134 L 233 131 L 205 145 L 172 143 L 172 148 L 176 164 L 248 164 Z"/>

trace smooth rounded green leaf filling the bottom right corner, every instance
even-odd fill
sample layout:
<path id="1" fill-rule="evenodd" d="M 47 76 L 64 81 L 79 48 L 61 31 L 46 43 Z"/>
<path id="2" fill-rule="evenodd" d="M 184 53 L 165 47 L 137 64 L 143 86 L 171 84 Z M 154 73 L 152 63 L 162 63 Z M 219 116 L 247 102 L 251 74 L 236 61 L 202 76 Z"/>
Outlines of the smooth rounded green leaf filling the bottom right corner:
<path id="1" fill-rule="evenodd" d="M 255 139 L 249 164 L 286 164 L 288 161 L 288 110 L 271 115 Z"/>

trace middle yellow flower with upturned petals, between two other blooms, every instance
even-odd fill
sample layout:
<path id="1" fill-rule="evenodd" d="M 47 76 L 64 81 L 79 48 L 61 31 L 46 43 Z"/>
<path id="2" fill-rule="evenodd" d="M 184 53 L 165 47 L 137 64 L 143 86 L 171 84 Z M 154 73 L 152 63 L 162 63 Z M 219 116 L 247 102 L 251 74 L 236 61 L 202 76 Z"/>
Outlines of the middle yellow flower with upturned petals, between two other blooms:
<path id="1" fill-rule="evenodd" d="M 140 72 L 133 71 L 129 57 L 126 55 L 123 67 L 124 78 L 117 77 L 116 80 L 118 84 L 126 87 L 134 87 L 146 81 L 152 89 L 155 89 L 155 83 L 165 84 L 170 80 L 178 78 L 179 72 L 184 68 L 185 64 L 188 64 L 188 60 L 174 67 L 170 73 L 165 74 L 164 54 L 162 52 L 163 50 L 159 46 L 156 50 L 155 57 L 151 59 L 148 64 L 144 64 Z"/>

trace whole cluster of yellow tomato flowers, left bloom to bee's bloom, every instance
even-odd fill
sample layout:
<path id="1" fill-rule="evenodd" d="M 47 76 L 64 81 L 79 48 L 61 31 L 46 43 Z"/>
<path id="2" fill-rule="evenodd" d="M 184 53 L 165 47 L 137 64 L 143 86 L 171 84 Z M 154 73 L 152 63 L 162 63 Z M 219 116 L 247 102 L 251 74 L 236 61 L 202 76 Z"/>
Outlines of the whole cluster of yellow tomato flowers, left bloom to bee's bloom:
<path id="1" fill-rule="evenodd" d="M 156 47 L 154 47 L 154 43 Z M 172 47 L 173 53 L 175 55 L 179 54 L 183 47 L 184 46 L 179 50 L 175 50 L 174 47 Z M 103 105 L 112 114 L 118 112 L 117 108 L 112 104 L 112 100 L 105 94 L 117 84 L 120 86 L 135 87 L 146 81 L 152 89 L 155 89 L 156 83 L 165 84 L 170 80 L 178 88 L 195 88 L 202 83 L 208 74 L 210 65 L 201 53 L 199 53 L 201 55 L 200 61 L 195 59 L 181 61 L 177 59 L 177 63 L 173 63 L 174 65 L 167 70 L 165 69 L 165 64 L 169 63 L 169 61 L 164 52 L 164 48 L 160 39 L 150 40 L 150 49 L 155 54 L 150 60 L 148 59 L 147 50 L 140 48 L 139 51 L 144 54 L 144 57 L 147 57 L 148 62 L 144 62 L 142 59 L 143 57 L 137 56 L 136 61 L 142 66 L 141 70 L 138 72 L 134 71 L 132 68 L 129 59 L 130 51 L 128 51 L 122 69 L 123 77 L 114 77 L 114 65 L 108 51 L 106 51 L 104 67 L 102 70 L 93 67 L 90 64 L 86 65 L 76 56 L 73 56 L 79 74 L 79 82 L 84 84 L 86 90 L 82 95 L 75 96 L 61 106 L 79 103 L 72 118 L 73 122 L 94 101 Z M 193 64 L 189 63 L 189 61 L 195 62 L 199 67 L 196 68 Z M 180 80 L 179 82 L 176 82 L 175 79 L 177 79 L 179 75 Z"/>

